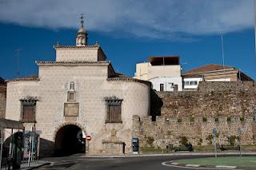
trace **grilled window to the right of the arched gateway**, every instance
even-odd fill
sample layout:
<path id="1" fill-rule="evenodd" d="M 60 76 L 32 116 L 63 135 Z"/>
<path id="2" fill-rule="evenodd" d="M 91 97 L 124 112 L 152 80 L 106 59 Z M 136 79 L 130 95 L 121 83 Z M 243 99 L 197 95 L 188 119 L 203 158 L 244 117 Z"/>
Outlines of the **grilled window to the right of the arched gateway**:
<path id="1" fill-rule="evenodd" d="M 122 123 L 122 99 L 105 97 L 106 123 Z"/>

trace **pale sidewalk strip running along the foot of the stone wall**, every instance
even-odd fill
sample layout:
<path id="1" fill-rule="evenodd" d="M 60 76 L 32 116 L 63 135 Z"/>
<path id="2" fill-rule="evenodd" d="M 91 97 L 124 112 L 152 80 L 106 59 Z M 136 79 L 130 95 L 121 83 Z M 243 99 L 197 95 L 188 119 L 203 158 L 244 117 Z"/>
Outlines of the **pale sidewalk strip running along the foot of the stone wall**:
<path id="1" fill-rule="evenodd" d="M 81 157 L 88 157 L 88 158 L 122 158 L 122 157 L 146 157 L 146 156 L 214 156 L 214 152 L 174 152 L 174 153 L 156 153 L 156 154 L 125 154 L 125 155 L 85 155 Z M 218 152 L 218 156 L 235 156 L 239 155 L 238 152 Z M 256 156 L 256 152 L 242 152 L 243 156 Z"/>

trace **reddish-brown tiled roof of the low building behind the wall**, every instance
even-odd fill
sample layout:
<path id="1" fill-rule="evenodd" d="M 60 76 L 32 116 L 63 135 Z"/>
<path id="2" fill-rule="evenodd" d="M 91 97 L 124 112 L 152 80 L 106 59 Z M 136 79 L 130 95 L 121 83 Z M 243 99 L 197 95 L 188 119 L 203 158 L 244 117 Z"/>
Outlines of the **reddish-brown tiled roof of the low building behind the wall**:
<path id="1" fill-rule="evenodd" d="M 209 65 L 202 65 L 195 69 L 190 69 L 189 71 L 186 71 L 183 74 L 206 73 L 211 71 L 217 71 L 220 69 L 235 69 L 235 68 L 229 65 L 223 66 L 223 65 L 209 64 Z"/>

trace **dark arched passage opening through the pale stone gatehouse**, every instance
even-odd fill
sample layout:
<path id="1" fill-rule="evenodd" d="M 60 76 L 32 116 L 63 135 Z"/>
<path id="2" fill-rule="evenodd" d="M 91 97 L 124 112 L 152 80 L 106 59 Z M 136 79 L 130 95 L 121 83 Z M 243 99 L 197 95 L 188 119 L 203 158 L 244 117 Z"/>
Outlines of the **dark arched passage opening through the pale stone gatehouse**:
<path id="1" fill-rule="evenodd" d="M 56 133 L 54 153 L 56 156 L 68 156 L 86 152 L 85 141 L 81 128 L 77 125 L 65 125 Z"/>

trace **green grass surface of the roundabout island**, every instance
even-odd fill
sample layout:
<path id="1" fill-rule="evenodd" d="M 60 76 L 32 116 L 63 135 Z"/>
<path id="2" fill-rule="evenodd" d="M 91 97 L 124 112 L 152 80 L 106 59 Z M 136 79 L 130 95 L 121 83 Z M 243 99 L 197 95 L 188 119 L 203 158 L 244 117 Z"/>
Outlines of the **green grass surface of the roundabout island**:
<path id="1" fill-rule="evenodd" d="M 208 157 L 187 160 L 176 160 L 180 164 L 223 165 L 256 168 L 256 156 Z"/>

